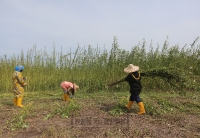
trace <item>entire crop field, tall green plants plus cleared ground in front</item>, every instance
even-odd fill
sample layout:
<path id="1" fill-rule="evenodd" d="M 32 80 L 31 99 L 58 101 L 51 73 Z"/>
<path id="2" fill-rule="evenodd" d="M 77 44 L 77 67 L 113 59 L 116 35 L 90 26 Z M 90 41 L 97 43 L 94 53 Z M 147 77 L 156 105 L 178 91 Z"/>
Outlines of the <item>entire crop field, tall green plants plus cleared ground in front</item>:
<path id="1" fill-rule="evenodd" d="M 0 56 L 0 137 L 200 137 L 198 39 L 181 49 L 168 40 L 154 49 L 143 40 L 126 51 L 114 37 L 110 50 L 89 45 L 66 53 L 53 46 L 47 53 L 33 46 Z M 140 66 L 146 115 L 137 115 L 137 104 L 124 108 L 127 83 L 105 87 L 125 76 L 130 63 Z M 24 108 L 13 106 L 11 78 L 18 64 L 28 83 Z M 63 80 L 80 86 L 71 102 L 62 101 Z"/>

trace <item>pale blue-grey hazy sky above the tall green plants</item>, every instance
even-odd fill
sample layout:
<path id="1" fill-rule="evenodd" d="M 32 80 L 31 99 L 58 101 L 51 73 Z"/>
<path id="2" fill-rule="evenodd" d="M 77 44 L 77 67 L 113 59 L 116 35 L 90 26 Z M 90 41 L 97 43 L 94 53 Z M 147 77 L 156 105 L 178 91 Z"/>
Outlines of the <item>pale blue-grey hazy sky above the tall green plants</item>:
<path id="1" fill-rule="evenodd" d="M 200 36 L 200 0 L 0 0 L 0 56 L 34 45 L 65 53 L 91 45 L 180 48 Z M 197 42 L 197 45 L 200 41 Z"/>

